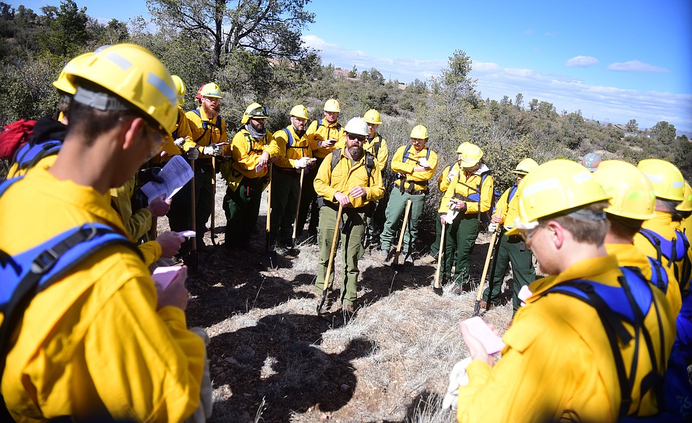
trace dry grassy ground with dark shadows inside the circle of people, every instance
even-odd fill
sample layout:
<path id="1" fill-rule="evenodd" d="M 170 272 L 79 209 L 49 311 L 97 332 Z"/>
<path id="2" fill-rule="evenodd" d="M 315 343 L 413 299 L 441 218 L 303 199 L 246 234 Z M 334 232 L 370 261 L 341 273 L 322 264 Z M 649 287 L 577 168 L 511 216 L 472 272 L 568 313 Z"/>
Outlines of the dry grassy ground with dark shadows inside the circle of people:
<path id="1" fill-rule="evenodd" d="M 216 221 L 223 223 L 222 196 L 217 192 Z M 435 295 L 433 266 L 394 269 L 366 253 L 356 315 L 344 322 L 335 307 L 324 319 L 315 313 L 312 285 L 317 247 L 299 245 L 298 257 L 264 270 L 264 211 L 258 227 L 250 251 L 219 246 L 200 254 L 200 273 L 188 282 L 189 324 L 212 339 L 210 422 L 454 421 L 439 408 L 449 371 L 468 354 L 458 323 L 472 315 L 475 292 L 457 296 L 447 287 Z M 477 278 L 487 243 L 480 236 L 473 254 Z M 482 312 L 500 332 L 511 316 L 511 300 Z"/>

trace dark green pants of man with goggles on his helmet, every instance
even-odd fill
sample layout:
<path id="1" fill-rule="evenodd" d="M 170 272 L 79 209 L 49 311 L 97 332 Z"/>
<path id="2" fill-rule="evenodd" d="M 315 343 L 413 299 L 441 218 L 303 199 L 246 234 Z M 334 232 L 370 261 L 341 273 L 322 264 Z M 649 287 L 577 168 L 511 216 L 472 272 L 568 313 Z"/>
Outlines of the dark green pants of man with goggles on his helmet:
<path id="1" fill-rule="evenodd" d="M 226 212 L 226 244 L 245 247 L 257 225 L 259 204 L 264 191 L 264 178 L 240 180 L 236 191 L 226 189 L 224 211 Z"/>

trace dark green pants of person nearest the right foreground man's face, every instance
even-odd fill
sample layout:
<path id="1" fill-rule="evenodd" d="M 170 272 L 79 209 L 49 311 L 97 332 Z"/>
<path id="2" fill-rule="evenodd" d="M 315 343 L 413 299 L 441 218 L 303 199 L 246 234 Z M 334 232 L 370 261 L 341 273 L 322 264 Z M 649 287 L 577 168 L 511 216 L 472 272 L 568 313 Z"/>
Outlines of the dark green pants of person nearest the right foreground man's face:
<path id="1" fill-rule="evenodd" d="M 483 298 L 489 303 L 494 305 L 498 304 L 500 292 L 502 292 L 502 285 L 505 280 L 507 264 L 512 263 L 512 279 L 514 280 L 512 284 L 512 308 L 514 308 L 514 313 L 517 313 L 521 303 L 518 297 L 519 290 L 521 287 L 536 280 L 536 271 L 535 268 L 533 268 L 533 254 L 531 250 L 526 248 L 526 243 L 521 241 L 521 237 L 518 235 L 503 235 L 502 239 L 500 239 L 498 248 L 500 250 L 498 251 L 497 262 L 491 264 L 491 266 L 495 266 L 493 292 L 488 300 L 488 290 L 490 286 L 486 287 L 483 292 Z"/>

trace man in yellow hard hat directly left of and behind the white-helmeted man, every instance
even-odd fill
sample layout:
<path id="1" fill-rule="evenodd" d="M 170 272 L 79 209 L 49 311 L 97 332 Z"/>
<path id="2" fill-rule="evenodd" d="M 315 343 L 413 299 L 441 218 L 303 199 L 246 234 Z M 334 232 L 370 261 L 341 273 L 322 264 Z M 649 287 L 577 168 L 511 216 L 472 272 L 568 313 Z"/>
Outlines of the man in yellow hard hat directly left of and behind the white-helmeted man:
<path id="1" fill-rule="evenodd" d="M 324 103 L 324 119 L 313 120 L 305 132 L 305 136 L 310 141 L 312 157 L 315 163 L 310 165 L 308 173 L 303 181 L 303 192 L 301 193 L 301 206 L 298 210 L 298 230 L 297 235 L 303 234 L 305 221 L 308 220 L 308 242 L 317 242 L 317 224 L 319 222 L 319 208 L 317 207 L 317 194 L 313 181 L 317 175 L 317 169 L 336 143 L 344 136 L 344 129 L 337 122 L 341 108 L 335 99 L 329 99 Z"/>

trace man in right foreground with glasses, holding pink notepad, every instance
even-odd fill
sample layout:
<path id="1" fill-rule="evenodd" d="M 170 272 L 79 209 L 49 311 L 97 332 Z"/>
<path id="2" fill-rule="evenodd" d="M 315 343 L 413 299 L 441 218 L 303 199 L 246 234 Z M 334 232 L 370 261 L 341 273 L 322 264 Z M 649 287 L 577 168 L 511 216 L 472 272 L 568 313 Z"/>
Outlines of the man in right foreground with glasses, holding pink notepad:
<path id="1" fill-rule="evenodd" d="M 609 196 L 584 166 L 562 159 L 533 169 L 516 195 L 509 234 L 524 239 L 549 276 L 522 296 L 526 305 L 505 332 L 497 363 L 461 324 L 471 361 L 452 375 L 463 369 L 468 384 L 448 391 L 457 392 L 457 420 L 607 423 L 656 414 L 656 391 L 642 392 L 642 380 L 663 374 L 675 323 L 663 293 L 607 255 Z M 596 297 L 606 304 L 598 311 Z M 620 315 L 612 306 L 622 304 L 630 306 Z"/>

